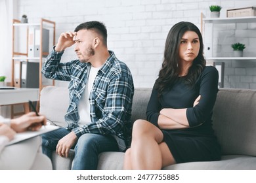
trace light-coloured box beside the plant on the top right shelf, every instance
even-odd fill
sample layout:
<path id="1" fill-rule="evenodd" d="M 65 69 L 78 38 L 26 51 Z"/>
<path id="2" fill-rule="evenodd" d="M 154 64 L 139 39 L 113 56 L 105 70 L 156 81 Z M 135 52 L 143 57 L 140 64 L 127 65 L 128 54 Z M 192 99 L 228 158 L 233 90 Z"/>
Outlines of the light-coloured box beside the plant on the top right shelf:
<path id="1" fill-rule="evenodd" d="M 236 8 L 226 10 L 226 17 L 256 16 L 256 7 Z"/>

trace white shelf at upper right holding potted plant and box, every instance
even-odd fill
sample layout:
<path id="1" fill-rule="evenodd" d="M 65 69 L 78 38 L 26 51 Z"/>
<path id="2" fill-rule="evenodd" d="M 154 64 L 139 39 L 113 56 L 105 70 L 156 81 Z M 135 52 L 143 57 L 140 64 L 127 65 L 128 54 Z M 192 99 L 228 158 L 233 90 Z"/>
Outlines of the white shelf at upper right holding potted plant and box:
<path id="1" fill-rule="evenodd" d="M 256 22 L 256 16 L 230 17 L 230 18 L 203 18 L 204 22 L 214 24 L 252 23 Z"/>

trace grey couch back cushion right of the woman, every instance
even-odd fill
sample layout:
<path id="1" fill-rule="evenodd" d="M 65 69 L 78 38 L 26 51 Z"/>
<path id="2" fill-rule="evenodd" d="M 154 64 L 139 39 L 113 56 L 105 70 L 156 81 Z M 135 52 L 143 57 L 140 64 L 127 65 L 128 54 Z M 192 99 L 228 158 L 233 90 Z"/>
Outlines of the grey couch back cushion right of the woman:
<path id="1" fill-rule="evenodd" d="M 223 154 L 256 156 L 256 90 L 220 89 L 213 128 Z"/>

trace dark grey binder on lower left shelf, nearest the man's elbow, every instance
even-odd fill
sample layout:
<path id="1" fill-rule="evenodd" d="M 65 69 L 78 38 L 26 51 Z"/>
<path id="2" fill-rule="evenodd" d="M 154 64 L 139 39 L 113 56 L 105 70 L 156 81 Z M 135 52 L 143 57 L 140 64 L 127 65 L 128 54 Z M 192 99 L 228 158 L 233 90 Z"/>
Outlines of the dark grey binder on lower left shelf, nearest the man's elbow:
<path id="1" fill-rule="evenodd" d="M 39 88 L 39 62 L 22 61 L 21 88 Z"/>

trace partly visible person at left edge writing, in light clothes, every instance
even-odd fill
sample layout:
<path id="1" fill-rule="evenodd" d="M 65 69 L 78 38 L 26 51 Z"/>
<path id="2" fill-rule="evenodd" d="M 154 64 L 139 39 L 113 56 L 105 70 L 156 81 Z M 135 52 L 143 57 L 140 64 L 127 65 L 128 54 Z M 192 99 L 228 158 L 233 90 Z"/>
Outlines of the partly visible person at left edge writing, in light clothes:
<path id="1" fill-rule="evenodd" d="M 46 125 L 45 116 L 35 112 L 12 120 L 0 116 L 0 170 L 53 169 L 51 160 L 41 152 L 39 136 L 6 146 L 16 133 L 37 131 L 42 125 Z"/>

